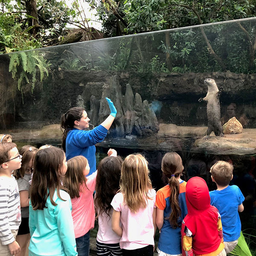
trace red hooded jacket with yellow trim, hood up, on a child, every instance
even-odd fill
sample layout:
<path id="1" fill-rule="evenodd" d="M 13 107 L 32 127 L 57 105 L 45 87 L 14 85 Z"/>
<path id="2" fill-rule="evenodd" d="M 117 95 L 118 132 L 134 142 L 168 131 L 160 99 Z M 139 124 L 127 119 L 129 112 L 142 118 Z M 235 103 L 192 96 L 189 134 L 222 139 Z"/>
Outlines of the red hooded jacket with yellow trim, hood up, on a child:
<path id="1" fill-rule="evenodd" d="M 209 190 L 200 177 L 192 177 L 186 185 L 188 214 L 181 227 L 183 255 L 218 255 L 224 249 L 221 217 L 210 205 Z M 186 253 L 185 253 L 186 252 Z"/>

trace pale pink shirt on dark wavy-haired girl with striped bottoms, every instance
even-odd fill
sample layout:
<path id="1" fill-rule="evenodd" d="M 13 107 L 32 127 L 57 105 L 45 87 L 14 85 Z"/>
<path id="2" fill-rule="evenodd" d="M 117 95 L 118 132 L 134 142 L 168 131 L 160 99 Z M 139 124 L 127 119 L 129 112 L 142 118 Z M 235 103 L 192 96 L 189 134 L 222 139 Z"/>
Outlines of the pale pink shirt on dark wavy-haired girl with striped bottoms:
<path id="1" fill-rule="evenodd" d="M 103 212 L 99 215 L 99 230 L 97 233 L 97 241 L 100 243 L 117 244 L 121 239 L 121 237 L 112 230 L 112 212 L 113 210 L 110 212 L 110 218 L 106 212 Z"/>

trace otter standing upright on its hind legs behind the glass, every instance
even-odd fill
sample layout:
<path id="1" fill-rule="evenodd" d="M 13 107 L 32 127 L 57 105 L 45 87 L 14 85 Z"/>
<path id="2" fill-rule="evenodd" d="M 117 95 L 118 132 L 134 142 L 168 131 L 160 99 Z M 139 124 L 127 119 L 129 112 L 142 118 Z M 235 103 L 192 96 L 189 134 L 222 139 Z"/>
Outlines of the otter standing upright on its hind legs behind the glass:
<path id="1" fill-rule="evenodd" d="M 210 78 L 205 79 L 204 83 L 208 86 L 207 95 L 198 100 L 199 102 L 203 100 L 207 102 L 208 129 L 207 137 L 204 139 L 209 139 L 212 131 L 214 131 L 215 136 L 224 137 L 221 125 L 221 108 L 218 86 L 215 83 L 215 80 Z"/>

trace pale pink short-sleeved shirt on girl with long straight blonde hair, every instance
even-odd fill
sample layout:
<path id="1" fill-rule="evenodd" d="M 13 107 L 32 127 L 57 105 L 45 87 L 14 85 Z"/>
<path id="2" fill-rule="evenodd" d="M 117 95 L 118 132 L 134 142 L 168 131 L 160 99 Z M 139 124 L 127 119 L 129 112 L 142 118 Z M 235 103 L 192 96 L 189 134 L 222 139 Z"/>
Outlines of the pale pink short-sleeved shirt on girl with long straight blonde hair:
<path id="1" fill-rule="evenodd" d="M 148 206 L 141 208 L 138 212 L 131 212 L 124 202 L 122 193 L 117 193 L 111 205 L 117 212 L 121 212 L 120 221 L 122 223 L 122 238 L 120 247 L 126 250 L 143 248 L 149 244 L 154 245 L 154 224 L 153 210 L 156 208 L 156 192 L 154 189 L 148 191 Z"/>

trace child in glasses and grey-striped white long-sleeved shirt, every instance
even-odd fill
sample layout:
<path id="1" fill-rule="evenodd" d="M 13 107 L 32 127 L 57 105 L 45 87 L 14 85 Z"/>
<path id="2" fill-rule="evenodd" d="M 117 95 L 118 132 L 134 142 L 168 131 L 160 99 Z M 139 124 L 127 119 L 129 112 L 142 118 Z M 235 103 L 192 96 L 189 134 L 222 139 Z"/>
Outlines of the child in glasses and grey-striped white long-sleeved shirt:
<path id="1" fill-rule="evenodd" d="M 20 169 L 21 157 L 15 143 L 0 143 L 0 256 L 20 252 L 15 241 L 21 221 L 20 195 L 12 172 Z"/>

